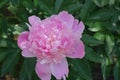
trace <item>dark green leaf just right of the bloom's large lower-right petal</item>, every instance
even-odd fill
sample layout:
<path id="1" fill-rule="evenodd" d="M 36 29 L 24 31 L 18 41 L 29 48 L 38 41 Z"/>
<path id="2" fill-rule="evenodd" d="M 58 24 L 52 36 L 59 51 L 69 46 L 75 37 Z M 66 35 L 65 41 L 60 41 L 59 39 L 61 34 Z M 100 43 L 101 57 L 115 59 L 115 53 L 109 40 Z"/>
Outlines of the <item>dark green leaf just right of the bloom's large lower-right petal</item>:
<path id="1" fill-rule="evenodd" d="M 95 63 L 101 63 L 102 62 L 102 57 L 96 53 L 95 51 L 93 51 L 92 48 L 90 47 L 85 47 L 85 58 L 89 61 L 93 61 Z"/>

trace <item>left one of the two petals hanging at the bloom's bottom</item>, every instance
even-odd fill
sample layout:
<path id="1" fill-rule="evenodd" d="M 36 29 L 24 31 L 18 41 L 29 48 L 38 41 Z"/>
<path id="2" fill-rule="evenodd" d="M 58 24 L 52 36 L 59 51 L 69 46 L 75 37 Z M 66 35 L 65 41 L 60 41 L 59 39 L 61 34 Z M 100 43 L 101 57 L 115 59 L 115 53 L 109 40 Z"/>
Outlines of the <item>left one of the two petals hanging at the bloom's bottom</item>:
<path id="1" fill-rule="evenodd" d="M 37 61 L 35 71 L 41 80 L 50 80 L 51 72 L 49 64 L 41 64 L 40 61 Z"/>

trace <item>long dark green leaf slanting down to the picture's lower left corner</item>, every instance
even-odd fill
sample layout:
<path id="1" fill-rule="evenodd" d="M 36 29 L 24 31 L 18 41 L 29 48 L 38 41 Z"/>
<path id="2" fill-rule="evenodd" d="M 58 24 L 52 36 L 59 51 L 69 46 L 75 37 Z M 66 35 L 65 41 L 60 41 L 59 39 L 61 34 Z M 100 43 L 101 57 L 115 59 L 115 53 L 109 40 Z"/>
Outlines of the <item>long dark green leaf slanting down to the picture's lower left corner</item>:
<path id="1" fill-rule="evenodd" d="M 7 59 L 2 64 L 1 68 L 1 76 L 4 76 L 6 73 L 11 73 L 14 69 L 15 65 L 17 64 L 19 60 L 19 50 L 14 51 L 9 54 Z"/>

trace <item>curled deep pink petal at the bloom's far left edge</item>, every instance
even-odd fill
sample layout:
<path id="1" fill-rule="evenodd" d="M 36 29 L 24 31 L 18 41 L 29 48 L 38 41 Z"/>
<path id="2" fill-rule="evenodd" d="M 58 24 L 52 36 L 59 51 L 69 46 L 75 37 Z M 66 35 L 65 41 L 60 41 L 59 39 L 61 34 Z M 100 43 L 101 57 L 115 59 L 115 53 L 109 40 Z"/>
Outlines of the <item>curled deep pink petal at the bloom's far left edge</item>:
<path id="1" fill-rule="evenodd" d="M 26 48 L 26 44 L 28 42 L 28 35 L 29 35 L 29 32 L 25 31 L 25 32 L 22 32 L 19 37 L 18 37 L 18 46 L 21 48 L 21 49 L 25 49 Z"/>

